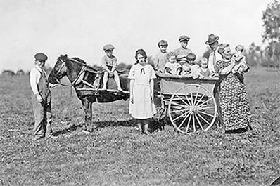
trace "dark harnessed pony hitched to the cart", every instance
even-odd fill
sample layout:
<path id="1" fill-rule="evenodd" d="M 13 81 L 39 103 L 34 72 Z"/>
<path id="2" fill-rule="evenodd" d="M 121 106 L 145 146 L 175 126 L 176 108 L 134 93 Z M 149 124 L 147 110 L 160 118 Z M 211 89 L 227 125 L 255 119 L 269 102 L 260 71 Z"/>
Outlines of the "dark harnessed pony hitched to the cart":
<path id="1" fill-rule="evenodd" d="M 65 76 L 68 77 L 71 83 L 70 86 L 74 87 L 77 97 L 82 101 L 84 127 L 87 131 L 92 131 L 92 129 L 96 128 L 95 124 L 92 124 L 93 102 L 113 102 L 129 98 L 129 93 L 127 93 L 129 90 L 127 74 L 120 74 L 123 92 L 100 91 L 98 88 L 103 87 L 101 70 L 89 67 L 84 60 L 79 58 L 68 58 L 67 54 L 59 56 L 56 60 L 56 64 L 49 74 L 49 82 L 51 84 L 61 84 L 61 79 Z M 108 79 L 108 88 L 117 89 L 113 78 Z"/>

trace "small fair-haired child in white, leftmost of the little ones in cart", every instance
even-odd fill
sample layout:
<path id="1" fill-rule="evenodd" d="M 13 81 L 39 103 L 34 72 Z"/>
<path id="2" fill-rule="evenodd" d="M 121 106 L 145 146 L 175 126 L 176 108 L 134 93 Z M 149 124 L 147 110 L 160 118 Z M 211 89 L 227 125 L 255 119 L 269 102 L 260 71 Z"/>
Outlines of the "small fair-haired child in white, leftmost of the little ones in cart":
<path id="1" fill-rule="evenodd" d="M 167 53 L 168 62 L 165 64 L 165 73 L 179 75 L 182 70 L 182 66 L 177 63 L 177 55 L 174 52 Z"/>

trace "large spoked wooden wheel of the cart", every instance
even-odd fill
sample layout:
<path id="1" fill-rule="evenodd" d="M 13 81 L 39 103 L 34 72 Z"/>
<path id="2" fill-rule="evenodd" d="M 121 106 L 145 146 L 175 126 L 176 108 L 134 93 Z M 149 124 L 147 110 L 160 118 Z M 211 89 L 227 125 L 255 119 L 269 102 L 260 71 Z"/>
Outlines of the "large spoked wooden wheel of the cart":
<path id="1" fill-rule="evenodd" d="M 208 131 L 215 122 L 217 104 L 207 88 L 188 84 L 171 96 L 167 112 L 172 125 L 181 133 Z"/>

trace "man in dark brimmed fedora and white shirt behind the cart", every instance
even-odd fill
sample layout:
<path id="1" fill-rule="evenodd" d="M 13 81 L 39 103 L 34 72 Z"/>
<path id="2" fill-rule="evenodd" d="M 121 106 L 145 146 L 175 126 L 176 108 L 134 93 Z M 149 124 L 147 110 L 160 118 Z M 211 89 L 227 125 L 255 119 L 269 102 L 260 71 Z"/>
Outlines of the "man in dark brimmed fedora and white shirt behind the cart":
<path id="1" fill-rule="evenodd" d="M 215 73 L 216 62 L 222 60 L 222 55 L 218 53 L 219 49 L 219 36 L 215 36 L 214 34 L 208 35 L 208 40 L 205 44 L 208 44 L 212 50 L 208 58 L 208 68 L 210 72 Z"/>

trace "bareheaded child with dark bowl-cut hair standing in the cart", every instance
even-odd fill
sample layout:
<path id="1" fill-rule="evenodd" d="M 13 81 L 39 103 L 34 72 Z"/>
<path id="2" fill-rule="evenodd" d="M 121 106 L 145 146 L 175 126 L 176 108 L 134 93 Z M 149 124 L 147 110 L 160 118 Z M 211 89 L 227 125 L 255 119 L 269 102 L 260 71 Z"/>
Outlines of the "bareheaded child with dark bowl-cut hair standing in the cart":
<path id="1" fill-rule="evenodd" d="M 160 52 L 155 55 L 155 58 L 153 58 L 153 63 L 155 65 L 155 71 L 163 73 L 165 64 L 168 62 L 167 60 L 167 41 L 160 40 L 158 41 L 158 48 L 160 48 Z"/>

